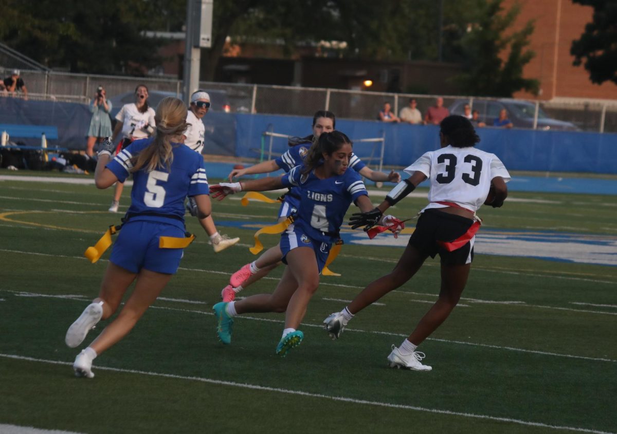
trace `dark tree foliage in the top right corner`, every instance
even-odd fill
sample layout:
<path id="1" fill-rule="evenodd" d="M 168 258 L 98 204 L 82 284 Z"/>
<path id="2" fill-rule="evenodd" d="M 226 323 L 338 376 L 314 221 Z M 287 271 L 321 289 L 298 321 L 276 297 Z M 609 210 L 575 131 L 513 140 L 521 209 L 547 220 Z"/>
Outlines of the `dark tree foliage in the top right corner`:
<path id="1" fill-rule="evenodd" d="M 572 41 L 570 54 L 575 66 L 583 59 L 592 83 L 617 84 L 617 4 L 611 0 L 573 0 L 594 8 L 592 22 L 585 26 L 580 39 Z"/>

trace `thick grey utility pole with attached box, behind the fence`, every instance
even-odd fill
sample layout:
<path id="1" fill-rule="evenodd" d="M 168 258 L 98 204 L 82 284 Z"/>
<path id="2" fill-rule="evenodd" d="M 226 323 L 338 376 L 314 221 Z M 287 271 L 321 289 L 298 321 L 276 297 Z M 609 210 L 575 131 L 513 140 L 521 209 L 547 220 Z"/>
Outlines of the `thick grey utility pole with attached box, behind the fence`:
<path id="1" fill-rule="evenodd" d="M 182 94 L 189 103 L 199 89 L 201 49 L 212 45 L 212 10 L 214 0 L 186 1 L 186 35 L 184 36 L 184 74 Z"/>

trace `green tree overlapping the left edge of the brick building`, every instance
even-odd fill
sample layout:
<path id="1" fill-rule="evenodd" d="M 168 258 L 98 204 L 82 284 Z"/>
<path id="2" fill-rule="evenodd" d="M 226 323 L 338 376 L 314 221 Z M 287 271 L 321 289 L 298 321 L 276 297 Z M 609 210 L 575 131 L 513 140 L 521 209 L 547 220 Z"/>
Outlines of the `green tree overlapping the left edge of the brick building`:
<path id="1" fill-rule="evenodd" d="M 537 94 L 539 81 L 523 78 L 523 67 L 535 53 L 526 47 L 534 31 L 529 21 L 519 31 L 508 33 L 508 28 L 520 13 L 515 4 L 503 11 L 502 0 L 491 0 L 481 7 L 478 22 L 470 26 L 460 46 L 465 57 L 465 73 L 455 81 L 465 94 L 478 96 L 511 97 L 524 89 Z M 508 52 L 505 62 L 502 53 Z"/>

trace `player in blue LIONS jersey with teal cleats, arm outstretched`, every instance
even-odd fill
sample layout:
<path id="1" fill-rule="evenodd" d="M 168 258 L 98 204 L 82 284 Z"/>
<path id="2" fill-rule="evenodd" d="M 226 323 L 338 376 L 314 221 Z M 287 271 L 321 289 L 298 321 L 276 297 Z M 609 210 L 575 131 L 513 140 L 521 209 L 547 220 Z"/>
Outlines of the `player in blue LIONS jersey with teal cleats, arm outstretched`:
<path id="1" fill-rule="evenodd" d="M 362 178 L 349 170 L 352 143 L 339 131 L 323 133 L 312 145 L 304 165 L 292 168 L 281 178 L 264 178 L 213 186 L 212 197 L 241 191 L 266 191 L 298 187 L 300 204 L 294 223 L 281 235 L 280 248 L 287 264 L 283 277 L 271 294 L 252 295 L 241 301 L 213 306 L 217 316 L 217 334 L 223 343 L 231 343 L 233 317 L 252 312 L 285 313 L 285 326 L 276 353 L 285 354 L 304 338 L 297 330 L 307 305 L 319 285 L 319 274 L 349 205 L 361 211 L 373 209 Z M 385 218 L 384 218 L 385 219 Z"/>

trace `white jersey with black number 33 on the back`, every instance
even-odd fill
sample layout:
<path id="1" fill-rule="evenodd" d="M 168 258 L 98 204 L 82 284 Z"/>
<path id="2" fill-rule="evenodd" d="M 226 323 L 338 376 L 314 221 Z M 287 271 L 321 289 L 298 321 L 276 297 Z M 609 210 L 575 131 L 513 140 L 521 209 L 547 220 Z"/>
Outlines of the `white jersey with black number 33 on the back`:
<path id="1" fill-rule="evenodd" d="M 415 171 L 424 173 L 431 182 L 428 193 L 431 203 L 424 210 L 447 206 L 436 202 L 454 202 L 475 212 L 486 200 L 495 176 L 510 181 L 510 173 L 497 155 L 473 146 L 446 146 L 426 152 L 405 169 L 409 174 Z"/>

